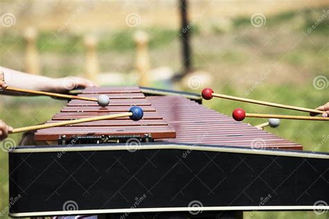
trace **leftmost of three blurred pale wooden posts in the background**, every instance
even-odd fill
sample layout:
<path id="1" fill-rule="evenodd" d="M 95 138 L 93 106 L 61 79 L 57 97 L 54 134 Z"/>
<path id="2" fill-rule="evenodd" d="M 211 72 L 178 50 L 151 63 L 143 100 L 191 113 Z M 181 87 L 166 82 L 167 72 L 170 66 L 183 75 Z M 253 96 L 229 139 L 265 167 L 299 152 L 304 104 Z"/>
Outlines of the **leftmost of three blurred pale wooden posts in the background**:
<path id="1" fill-rule="evenodd" d="M 40 59 L 37 52 L 37 30 L 34 27 L 28 27 L 24 31 L 24 40 L 26 42 L 25 51 L 25 71 L 27 73 L 40 74 Z"/>

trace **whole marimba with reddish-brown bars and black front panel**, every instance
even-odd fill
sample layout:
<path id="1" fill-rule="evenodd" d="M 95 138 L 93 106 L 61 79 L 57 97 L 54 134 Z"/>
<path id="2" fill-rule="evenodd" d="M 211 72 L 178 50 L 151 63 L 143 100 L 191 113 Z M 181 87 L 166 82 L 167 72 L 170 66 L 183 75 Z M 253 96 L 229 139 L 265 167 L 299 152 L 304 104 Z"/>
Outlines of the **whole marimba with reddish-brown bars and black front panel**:
<path id="1" fill-rule="evenodd" d="M 44 146 L 10 150 L 10 197 L 19 197 L 10 216 L 233 218 L 241 211 L 312 210 L 319 200 L 329 202 L 326 153 L 305 152 L 208 109 L 196 94 L 99 87 L 78 95 L 99 94 L 110 97 L 107 107 L 70 100 L 47 123 L 133 105 L 142 107 L 143 119 L 38 130 L 35 141 Z"/>

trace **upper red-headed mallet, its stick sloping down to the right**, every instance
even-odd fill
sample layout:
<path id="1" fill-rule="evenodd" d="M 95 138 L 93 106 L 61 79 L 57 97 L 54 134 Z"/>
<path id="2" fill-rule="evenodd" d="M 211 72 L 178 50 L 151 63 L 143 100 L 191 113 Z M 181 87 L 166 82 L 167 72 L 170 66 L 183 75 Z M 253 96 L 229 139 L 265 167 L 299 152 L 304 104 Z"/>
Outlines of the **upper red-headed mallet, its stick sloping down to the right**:
<path id="1" fill-rule="evenodd" d="M 266 105 L 266 106 L 270 106 L 270 107 L 278 107 L 278 108 L 283 108 L 283 109 L 293 109 L 293 110 L 302 111 L 302 112 L 312 112 L 315 114 L 324 113 L 324 111 L 317 110 L 317 109 L 309 109 L 309 108 L 305 108 L 305 107 L 295 107 L 292 105 L 283 105 L 283 104 L 279 104 L 279 103 L 271 103 L 271 102 L 265 102 L 265 101 L 261 101 L 261 100 L 252 100 L 252 99 L 248 99 L 248 98 L 228 96 L 228 95 L 224 95 L 224 94 L 214 94 L 214 91 L 211 88 L 203 89 L 201 95 L 205 100 L 210 100 L 210 99 L 212 99 L 213 96 L 215 96 L 215 97 L 224 98 L 224 99 L 228 99 L 228 100 L 238 100 L 238 101 L 242 101 L 242 102 L 246 102 L 246 103 L 255 103 L 255 104 L 259 104 L 259 105 Z"/>

